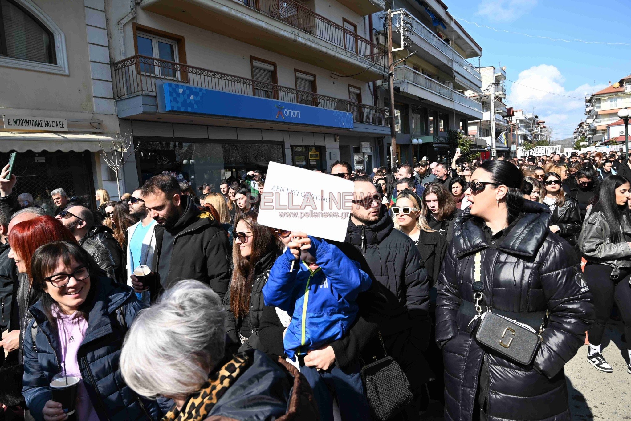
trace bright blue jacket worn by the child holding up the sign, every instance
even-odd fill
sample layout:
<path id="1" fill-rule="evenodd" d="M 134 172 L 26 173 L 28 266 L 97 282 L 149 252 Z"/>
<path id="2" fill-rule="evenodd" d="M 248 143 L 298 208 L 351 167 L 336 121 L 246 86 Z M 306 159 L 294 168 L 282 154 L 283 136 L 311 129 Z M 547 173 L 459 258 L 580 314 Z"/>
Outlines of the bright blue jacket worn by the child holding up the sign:
<path id="1" fill-rule="evenodd" d="M 319 268 L 311 271 L 303 262 L 294 264 L 290 271 L 293 255 L 287 249 L 276 259 L 263 287 L 266 305 L 292 315 L 283 340 L 291 359 L 343 338 L 357 316 L 357 294 L 370 288 L 372 282 L 338 247 L 309 238 L 309 252 Z"/>

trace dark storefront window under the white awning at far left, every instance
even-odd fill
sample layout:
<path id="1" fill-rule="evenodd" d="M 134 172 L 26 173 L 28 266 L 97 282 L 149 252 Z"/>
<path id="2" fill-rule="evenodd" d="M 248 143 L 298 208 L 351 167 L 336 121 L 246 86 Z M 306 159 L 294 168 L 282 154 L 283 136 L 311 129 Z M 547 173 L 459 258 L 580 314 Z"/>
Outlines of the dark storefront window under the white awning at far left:
<path id="1" fill-rule="evenodd" d="M 10 153 L 0 153 L 0 162 L 9 162 Z M 93 177 L 90 152 L 19 152 L 13 164 L 13 174 L 18 177 L 17 194 L 30 193 L 35 205 L 54 215 L 56 206 L 50 192 L 64 189 L 68 198 L 78 197 L 93 207 Z M 115 196 L 117 192 L 111 192 Z"/>

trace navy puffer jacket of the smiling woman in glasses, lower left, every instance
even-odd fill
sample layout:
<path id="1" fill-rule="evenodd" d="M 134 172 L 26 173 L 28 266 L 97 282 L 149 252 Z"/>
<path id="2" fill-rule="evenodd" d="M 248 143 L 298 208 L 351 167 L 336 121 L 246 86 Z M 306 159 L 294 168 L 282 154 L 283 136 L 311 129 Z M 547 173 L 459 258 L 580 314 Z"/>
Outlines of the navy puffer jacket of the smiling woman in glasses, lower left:
<path id="1" fill-rule="evenodd" d="M 158 420 L 162 412 L 155 401 L 141 400 L 122 379 L 119 369 L 122 341 L 142 304 L 131 287 L 114 283 L 110 278 L 97 278 L 91 288 L 97 288 L 88 313 L 88 328 L 79 348 L 77 359 L 81 377 L 90 395 L 98 418 L 109 420 Z M 118 313 L 125 318 L 121 326 Z M 37 321 L 37 335 L 33 349 L 32 326 L 24 335 L 24 377 L 22 394 L 36 420 L 42 420 L 42 409 L 50 400 L 48 387 L 52 376 L 61 371 L 59 335 L 44 315 L 40 299 L 30 307 Z"/>

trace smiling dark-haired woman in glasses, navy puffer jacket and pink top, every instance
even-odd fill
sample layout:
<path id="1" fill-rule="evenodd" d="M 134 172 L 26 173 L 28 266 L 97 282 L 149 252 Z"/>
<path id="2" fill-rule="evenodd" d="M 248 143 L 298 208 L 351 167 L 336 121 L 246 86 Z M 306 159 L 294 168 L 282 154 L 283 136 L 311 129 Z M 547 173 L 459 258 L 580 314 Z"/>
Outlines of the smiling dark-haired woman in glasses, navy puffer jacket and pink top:
<path id="1" fill-rule="evenodd" d="M 23 394 L 31 413 L 68 419 L 49 387 L 61 374 L 79 379 L 77 420 L 158 420 L 156 401 L 131 390 L 119 369 L 125 333 L 141 309 L 131 287 L 107 278 L 76 242 L 40 246 L 31 270 L 41 295 L 24 335 Z"/>

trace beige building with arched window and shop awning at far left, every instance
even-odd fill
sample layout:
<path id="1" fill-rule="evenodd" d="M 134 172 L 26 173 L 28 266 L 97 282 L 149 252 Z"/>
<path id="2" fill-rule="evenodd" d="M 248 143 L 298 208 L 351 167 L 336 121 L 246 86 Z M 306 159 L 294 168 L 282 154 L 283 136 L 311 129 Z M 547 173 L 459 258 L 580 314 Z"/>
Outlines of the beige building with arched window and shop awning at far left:
<path id="1" fill-rule="evenodd" d="M 18 152 L 17 193 L 51 213 L 59 187 L 86 203 L 98 188 L 117 194 L 98 153 L 119 131 L 103 10 L 103 0 L 0 0 L 0 162 Z"/>

